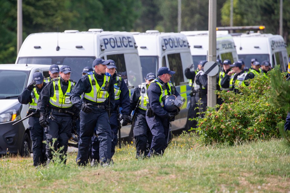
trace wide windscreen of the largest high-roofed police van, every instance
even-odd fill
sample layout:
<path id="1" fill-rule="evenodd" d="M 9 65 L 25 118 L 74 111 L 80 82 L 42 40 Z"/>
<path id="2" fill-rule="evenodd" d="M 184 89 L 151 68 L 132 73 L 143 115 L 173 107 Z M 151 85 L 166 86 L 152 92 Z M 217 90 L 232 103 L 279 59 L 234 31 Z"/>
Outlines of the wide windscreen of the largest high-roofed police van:
<path id="1" fill-rule="evenodd" d="M 46 57 L 19 57 L 18 64 L 56 64 L 67 65 L 72 73 L 70 79 L 78 81 L 82 77 L 82 70 L 87 66 L 92 66 L 95 57 L 90 56 L 46 56 Z"/>

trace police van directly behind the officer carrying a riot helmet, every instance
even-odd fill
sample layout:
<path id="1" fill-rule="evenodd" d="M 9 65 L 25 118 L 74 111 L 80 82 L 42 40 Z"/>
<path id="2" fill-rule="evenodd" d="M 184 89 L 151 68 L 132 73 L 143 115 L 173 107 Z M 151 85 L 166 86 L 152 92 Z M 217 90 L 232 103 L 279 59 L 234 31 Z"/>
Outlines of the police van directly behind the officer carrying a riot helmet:
<path id="1" fill-rule="evenodd" d="M 193 61 L 186 36 L 181 33 L 159 33 L 158 30 L 132 33 L 138 45 L 142 77 L 145 78 L 150 72 L 157 75 L 158 68 L 163 66 L 176 71 L 171 82 L 175 83 L 176 90 L 189 102 L 190 87 L 183 72 Z M 187 113 L 184 105 L 172 122 L 172 131 L 185 127 Z"/>

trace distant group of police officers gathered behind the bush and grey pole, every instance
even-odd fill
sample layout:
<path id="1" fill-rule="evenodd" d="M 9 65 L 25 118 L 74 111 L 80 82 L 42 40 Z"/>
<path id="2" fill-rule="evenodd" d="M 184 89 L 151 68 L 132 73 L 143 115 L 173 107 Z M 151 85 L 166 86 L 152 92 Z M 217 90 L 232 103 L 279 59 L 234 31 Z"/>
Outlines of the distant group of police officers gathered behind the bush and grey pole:
<path id="1" fill-rule="evenodd" d="M 198 63 L 198 69 L 195 70 L 192 64 L 184 71 L 185 77 L 189 79 L 189 85 L 192 87 L 188 119 L 197 118 L 198 116 L 202 117 L 202 112 L 205 111 L 207 106 L 208 77 L 203 70 L 206 62 L 206 60 L 201 60 Z M 271 70 L 269 61 L 263 61 L 262 64 L 260 64 L 255 58 L 251 59 L 250 69 L 245 67 L 243 60 L 238 60 L 232 64 L 229 59 L 223 62 L 217 59 L 217 63 L 221 65 L 221 71 L 217 75 L 217 90 L 233 90 L 235 93 L 239 92 L 239 86 L 248 85 L 248 83 L 245 82 L 246 80 L 254 78 L 257 74 L 266 76 L 266 73 Z M 217 103 L 222 104 L 222 99 L 217 98 Z M 186 128 L 197 128 L 196 124 L 197 122 L 195 120 L 188 120 Z"/>

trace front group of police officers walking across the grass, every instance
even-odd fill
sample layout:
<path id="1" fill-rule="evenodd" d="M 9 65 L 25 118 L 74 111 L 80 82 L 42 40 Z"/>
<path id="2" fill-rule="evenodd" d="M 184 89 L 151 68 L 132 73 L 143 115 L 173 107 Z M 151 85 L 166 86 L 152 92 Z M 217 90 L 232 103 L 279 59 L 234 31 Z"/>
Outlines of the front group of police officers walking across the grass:
<path id="1" fill-rule="evenodd" d="M 113 60 L 98 58 L 92 67 L 85 67 L 83 76 L 75 82 L 70 79 L 69 66 L 51 65 L 50 77 L 34 73 L 33 81 L 18 97 L 20 103 L 29 103 L 27 115 L 33 113 L 29 129 L 34 166 L 53 162 L 56 150 L 66 163 L 72 132 L 79 136 L 79 166 L 85 166 L 89 157 L 91 166 L 109 166 L 113 163 L 118 130 L 132 122 L 132 111 L 136 158 L 163 155 L 172 137 L 170 122 L 184 103 L 170 82 L 175 72 L 162 67 L 157 77 L 147 74 L 146 82 L 135 88 L 130 98 Z"/>

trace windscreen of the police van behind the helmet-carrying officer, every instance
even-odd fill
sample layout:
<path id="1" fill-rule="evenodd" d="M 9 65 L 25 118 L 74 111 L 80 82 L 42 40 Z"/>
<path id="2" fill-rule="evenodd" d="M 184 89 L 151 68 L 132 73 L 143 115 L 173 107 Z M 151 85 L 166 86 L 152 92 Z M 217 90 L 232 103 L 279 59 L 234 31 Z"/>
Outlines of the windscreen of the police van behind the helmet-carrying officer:
<path id="1" fill-rule="evenodd" d="M 142 66 L 142 78 L 146 78 L 146 75 L 150 72 L 156 74 L 158 66 L 157 56 L 140 56 L 140 62 Z"/>

